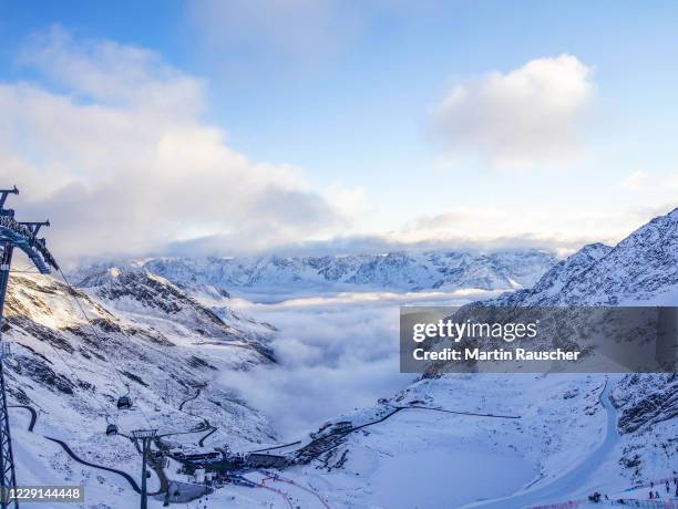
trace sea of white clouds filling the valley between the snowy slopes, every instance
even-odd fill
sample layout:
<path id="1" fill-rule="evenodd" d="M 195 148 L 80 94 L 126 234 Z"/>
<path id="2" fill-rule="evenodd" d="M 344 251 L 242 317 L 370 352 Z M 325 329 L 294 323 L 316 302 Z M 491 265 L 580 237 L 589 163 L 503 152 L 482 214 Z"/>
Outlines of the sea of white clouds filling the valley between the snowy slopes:
<path id="1" fill-rule="evenodd" d="M 271 343 L 279 364 L 227 372 L 222 381 L 266 413 L 284 438 L 298 438 L 414 380 L 399 368 L 400 305 L 460 305 L 489 293 L 360 292 L 266 304 L 235 299 L 234 308 L 280 330 Z"/>

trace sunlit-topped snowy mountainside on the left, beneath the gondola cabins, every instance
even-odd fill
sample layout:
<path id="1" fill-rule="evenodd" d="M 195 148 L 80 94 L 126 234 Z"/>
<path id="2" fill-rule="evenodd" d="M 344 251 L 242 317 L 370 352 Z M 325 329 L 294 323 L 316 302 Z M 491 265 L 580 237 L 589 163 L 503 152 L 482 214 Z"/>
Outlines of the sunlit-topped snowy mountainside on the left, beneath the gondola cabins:
<path id="1" fill-rule="evenodd" d="M 122 434 L 147 427 L 185 433 L 172 439 L 186 446 L 213 426 L 209 445 L 242 448 L 276 438 L 267 418 L 219 382 L 225 372 L 275 362 L 260 329 L 253 332 L 248 321 L 225 323 L 144 271 L 112 270 L 88 283 L 71 292 L 51 277 L 10 280 L 3 340 L 12 342 L 13 356 L 6 361 L 7 387 L 11 404 L 37 412 L 29 432 L 28 411 L 10 408 L 21 484 L 84 484 L 92 503 L 111 500 L 88 507 L 134 507 L 135 494 L 123 477 L 83 468 L 45 438 L 137 477 L 138 454 L 124 437 L 104 434 L 111 423 Z M 132 398 L 130 411 L 116 407 L 124 394 Z M 152 489 L 154 484 L 155 477 Z"/>

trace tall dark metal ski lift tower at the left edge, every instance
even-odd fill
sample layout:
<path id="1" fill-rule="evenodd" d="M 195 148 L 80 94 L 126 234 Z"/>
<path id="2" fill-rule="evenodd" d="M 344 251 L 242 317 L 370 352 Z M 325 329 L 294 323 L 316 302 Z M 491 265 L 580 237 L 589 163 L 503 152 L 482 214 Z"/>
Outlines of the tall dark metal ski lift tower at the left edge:
<path id="1" fill-rule="evenodd" d="M 17 475 L 14 471 L 14 457 L 12 455 L 12 440 L 7 415 L 7 392 L 4 387 L 4 360 L 10 355 L 10 345 L 2 341 L 2 322 L 4 310 L 4 298 L 9 282 L 10 266 L 14 248 L 21 249 L 33 262 L 41 274 L 50 273 L 51 269 L 59 270 L 59 266 L 48 250 L 44 239 L 38 238 L 38 232 L 43 226 L 50 226 L 50 221 L 20 222 L 14 219 L 14 211 L 4 208 L 9 195 L 18 195 L 19 190 L 0 189 L 0 509 L 19 507 L 19 502 L 9 500 L 10 489 L 17 488 Z"/>

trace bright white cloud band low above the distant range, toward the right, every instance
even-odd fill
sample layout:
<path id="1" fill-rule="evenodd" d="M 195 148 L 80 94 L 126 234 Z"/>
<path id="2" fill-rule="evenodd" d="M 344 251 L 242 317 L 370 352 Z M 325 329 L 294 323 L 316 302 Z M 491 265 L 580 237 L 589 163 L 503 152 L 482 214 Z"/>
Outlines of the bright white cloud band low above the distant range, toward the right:
<path id="1" fill-rule="evenodd" d="M 675 184 L 675 183 L 674 183 Z M 622 201 L 614 195 L 612 201 Z M 665 186 L 666 187 L 666 186 Z M 656 194 L 655 197 L 660 196 Z M 653 201 L 653 200 L 650 200 Z M 645 200 L 647 202 L 647 200 Z M 653 201 L 654 202 L 654 201 Z M 622 208 L 590 210 L 576 206 L 523 202 L 501 206 L 482 205 L 476 208 L 454 207 L 439 214 L 414 216 L 401 227 L 381 232 L 345 233 L 328 239 L 277 246 L 279 256 L 364 254 L 401 250 L 423 251 L 433 249 L 548 249 L 558 256 L 567 256 L 590 242 L 616 245 L 654 217 L 667 214 L 676 201 L 660 198 L 660 205 L 628 205 Z M 643 204 L 643 201 L 641 201 Z M 184 241 L 172 247 L 179 256 L 223 253 L 220 236 Z M 242 254 L 232 250 L 230 254 Z M 386 295 L 379 295 L 387 299 Z"/>

